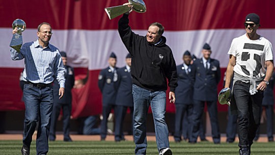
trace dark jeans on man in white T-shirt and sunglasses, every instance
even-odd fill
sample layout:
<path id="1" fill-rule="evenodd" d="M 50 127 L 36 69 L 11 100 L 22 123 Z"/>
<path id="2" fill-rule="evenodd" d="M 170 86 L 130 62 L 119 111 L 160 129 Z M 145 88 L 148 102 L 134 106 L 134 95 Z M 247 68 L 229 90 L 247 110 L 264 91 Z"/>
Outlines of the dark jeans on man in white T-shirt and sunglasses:
<path id="1" fill-rule="evenodd" d="M 254 95 L 249 92 L 250 84 L 237 81 L 233 88 L 238 110 L 239 147 L 253 144 L 257 128 L 260 125 L 263 91 Z"/>

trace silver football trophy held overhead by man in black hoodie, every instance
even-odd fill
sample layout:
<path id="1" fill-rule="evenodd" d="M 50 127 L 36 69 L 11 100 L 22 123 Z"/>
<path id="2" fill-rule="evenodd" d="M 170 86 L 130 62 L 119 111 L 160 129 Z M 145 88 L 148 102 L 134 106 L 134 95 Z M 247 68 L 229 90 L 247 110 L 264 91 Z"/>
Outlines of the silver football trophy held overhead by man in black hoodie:
<path id="1" fill-rule="evenodd" d="M 145 3 L 142 0 L 128 0 L 128 1 L 129 1 L 129 4 L 133 6 L 133 11 L 139 12 L 139 13 L 146 12 Z M 113 19 L 119 15 L 122 15 L 123 13 L 128 12 L 129 9 L 130 8 L 127 5 L 104 8 L 109 19 Z"/>

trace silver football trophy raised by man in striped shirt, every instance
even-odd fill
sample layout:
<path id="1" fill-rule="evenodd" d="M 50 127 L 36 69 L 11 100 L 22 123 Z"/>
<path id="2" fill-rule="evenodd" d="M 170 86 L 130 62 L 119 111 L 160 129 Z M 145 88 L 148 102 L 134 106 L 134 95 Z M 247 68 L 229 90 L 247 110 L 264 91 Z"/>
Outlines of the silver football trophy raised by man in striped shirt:
<path id="1" fill-rule="evenodd" d="M 12 29 L 14 30 L 15 28 L 17 28 L 17 33 L 13 34 L 10 47 L 20 52 L 23 44 L 22 32 L 26 29 L 26 23 L 22 19 L 15 19 L 12 23 Z"/>

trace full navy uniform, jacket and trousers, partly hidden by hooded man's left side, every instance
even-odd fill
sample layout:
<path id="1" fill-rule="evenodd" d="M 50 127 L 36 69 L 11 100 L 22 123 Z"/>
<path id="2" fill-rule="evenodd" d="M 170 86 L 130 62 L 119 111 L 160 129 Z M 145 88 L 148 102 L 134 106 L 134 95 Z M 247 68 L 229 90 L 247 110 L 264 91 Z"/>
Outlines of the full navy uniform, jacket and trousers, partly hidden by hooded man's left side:
<path id="1" fill-rule="evenodd" d="M 133 95 L 132 95 L 132 78 L 130 70 L 127 67 L 118 69 L 118 94 L 116 98 L 116 128 L 115 128 L 115 140 L 124 140 L 123 135 L 123 120 L 127 112 L 127 108 L 130 108 L 131 119 L 133 117 Z"/>

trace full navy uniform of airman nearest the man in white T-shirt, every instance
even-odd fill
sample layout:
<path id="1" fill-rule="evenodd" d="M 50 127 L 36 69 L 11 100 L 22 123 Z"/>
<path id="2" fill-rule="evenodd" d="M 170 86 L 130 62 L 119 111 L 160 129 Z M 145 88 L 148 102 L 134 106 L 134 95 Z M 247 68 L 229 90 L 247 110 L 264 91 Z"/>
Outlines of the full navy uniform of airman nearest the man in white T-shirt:
<path id="1" fill-rule="evenodd" d="M 219 68 L 219 62 L 211 58 L 207 60 L 205 67 L 203 59 L 204 58 L 197 59 L 192 66 L 194 70 L 192 76 L 195 80 L 193 110 L 194 126 L 190 142 L 197 142 L 200 121 L 206 102 L 211 121 L 213 142 L 218 144 L 221 142 L 221 134 L 219 133 L 217 120 L 217 84 L 221 80 L 221 69 Z"/>

